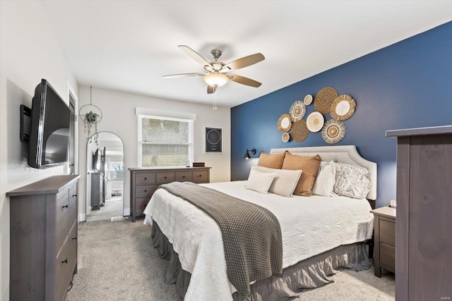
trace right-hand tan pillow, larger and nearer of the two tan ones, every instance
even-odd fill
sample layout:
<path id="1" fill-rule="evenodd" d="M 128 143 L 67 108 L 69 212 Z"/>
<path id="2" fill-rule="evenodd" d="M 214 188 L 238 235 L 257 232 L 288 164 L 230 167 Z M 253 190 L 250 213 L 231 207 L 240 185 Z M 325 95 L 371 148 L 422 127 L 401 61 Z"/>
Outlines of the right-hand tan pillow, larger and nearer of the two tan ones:
<path id="1" fill-rule="evenodd" d="M 315 156 L 297 156 L 296 154 L 285 152 L 283 169 L 301 169 L 303 171 L 294 195 L 303 195 L 304 197 L 312 195 L 312 186 L 316 180 L 317 173 L 319 173 L 320 162 L 321 158 L 318 154 Z"/>

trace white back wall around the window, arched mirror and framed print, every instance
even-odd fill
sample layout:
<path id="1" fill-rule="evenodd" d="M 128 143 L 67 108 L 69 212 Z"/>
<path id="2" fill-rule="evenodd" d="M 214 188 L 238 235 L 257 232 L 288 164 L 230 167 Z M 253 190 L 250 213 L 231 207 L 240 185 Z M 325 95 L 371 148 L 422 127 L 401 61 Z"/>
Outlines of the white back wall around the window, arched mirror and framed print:
<path id="1" fill-rule="evenodd" d="M 90 103 L 90 87 L 80 87 L 78 93 L 79 106 Z M 102 90 L 93 87 L 93 104 L 102 110 L 102 120 L 97 124 L 97 131 L 107 131 L 118 135 L 124 143 L 124 212 L 130 212 L 130 173 L 127 168 L 138 165 L 138 121 L 135 114 L 136 107 L 156 110 L 176 111 L 196 114 L 194 122 L 194 161 L 206 162 L 210 170 L 210 182 L 223 182 L 230 180 L 230 149 L 231 149 L 231 118 L 230 109 L 212 106 L 179 102 L 172 99 L 148 97 L 111 90 Z M 218 127 L 223 129 L 223 153 L 204 154 L 204 127 Z M 85 214 L 85 175 L 86 175 L 86 140 L 83 133 L 83 123 L 79 123 L 79 172 L 80 193 L 78 212 Z M 83 199 L 82 199 L 83 198 Z"/>

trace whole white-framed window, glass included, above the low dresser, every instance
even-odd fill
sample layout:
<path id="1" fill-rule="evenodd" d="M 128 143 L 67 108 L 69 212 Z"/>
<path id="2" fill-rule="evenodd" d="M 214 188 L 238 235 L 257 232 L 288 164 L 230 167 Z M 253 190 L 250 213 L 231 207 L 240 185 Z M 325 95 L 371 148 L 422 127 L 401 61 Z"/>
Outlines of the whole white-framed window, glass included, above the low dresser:
<path id="1" fill-rule="evenodd" d="M 193 161 L 193 120 L 138 115 L 138 165 L 186 166 Z"/>

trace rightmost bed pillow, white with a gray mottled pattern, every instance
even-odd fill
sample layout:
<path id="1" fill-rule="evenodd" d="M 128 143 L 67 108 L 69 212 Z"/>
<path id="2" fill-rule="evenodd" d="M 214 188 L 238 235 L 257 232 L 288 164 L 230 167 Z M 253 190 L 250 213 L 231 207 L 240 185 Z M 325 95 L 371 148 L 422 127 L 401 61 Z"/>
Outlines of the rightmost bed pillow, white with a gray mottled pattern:
<path id="1" fill-rule="evenodd" d="M 333 192 L 345 197 L 364 199 L 370 191 L 370 172 L 366 168 L 335 163 Z"/>

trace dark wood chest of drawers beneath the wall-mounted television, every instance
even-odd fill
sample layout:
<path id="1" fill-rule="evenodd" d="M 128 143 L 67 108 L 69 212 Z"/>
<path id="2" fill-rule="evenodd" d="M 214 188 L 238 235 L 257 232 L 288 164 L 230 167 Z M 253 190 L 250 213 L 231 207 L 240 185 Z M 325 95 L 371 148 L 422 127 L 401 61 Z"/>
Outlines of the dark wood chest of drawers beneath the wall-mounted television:
<path id="1" fill-rule="evenodd" d="M 77 272 L 80 176 L 52 176 L 10 198 L 9 300 L 61 301 Z"/>

